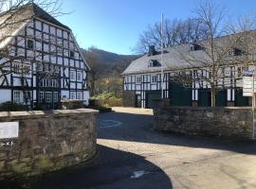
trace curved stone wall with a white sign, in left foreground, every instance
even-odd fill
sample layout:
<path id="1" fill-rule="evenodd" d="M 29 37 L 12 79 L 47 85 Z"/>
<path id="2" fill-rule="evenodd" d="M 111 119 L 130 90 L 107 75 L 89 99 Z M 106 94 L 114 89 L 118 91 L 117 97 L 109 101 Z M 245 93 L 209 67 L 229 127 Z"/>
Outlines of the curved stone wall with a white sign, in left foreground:
<path id="1" fill-rule="evenodd" d="M 0 139 L 0 178 L 54 171 L 92 158 L 96 113 L 88 109 L 0 112 L 0 122 L 19 122 L 17 138 Z"/>

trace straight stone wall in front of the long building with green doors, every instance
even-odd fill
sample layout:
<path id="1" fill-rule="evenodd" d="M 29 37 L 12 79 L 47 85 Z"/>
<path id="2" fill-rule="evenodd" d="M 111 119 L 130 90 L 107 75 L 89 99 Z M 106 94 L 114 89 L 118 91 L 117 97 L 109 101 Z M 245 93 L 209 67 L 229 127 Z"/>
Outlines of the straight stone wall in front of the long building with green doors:
<path id="1" fill-rule="evenodd" d="M 248 107 L 156 106 L 154 129 L 184 134 L 250 139 L 252 112 Z"/>

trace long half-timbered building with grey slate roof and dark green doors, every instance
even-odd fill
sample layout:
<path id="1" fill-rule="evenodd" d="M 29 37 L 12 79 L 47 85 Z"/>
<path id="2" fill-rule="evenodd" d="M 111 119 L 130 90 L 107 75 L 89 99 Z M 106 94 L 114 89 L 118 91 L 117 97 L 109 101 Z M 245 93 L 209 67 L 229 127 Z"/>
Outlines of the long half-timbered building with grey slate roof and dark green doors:
<path id="1" fill-rule="evenodd" d="M 204 49 L 195 48 L 193 44 L 182 44 L 168 47 L 163 53 L 163 68 L 161 68 L 161 55 L 152 46 L 148 54 L 140 57 L 127 67 L 122 73 L 123 96 L 135 98 L 128 106 L 152 108 L 153 101 L 159 98 L 169 98 L 173 106 L 211 106 L 210 84 L 202 77 L 210 77 L 210 69 L 206 65 L 198 63 L 190 65 L 185 60 L 178 58 L 176 48 L 182 51 L 194 53 L 197 57 L 204 56 Z M 229 52 L 230 56 L 239 57 L 237 49 Z M 161 75 L 163 69 L 163 78 Z M 216 106 L 248 106 L 251 99 L 243 96 L 242 81 L 243 70 L 253 70 L 252 66 L 234 65 L 225 66 L 222 69 L 223 77 L 218 79 L 216 90 Z M 174 79 L 177 75 L 198 77 L 192 79 L 188 86 Z M 127 94 L 127 95 L 126 95 Z M 129 94 L 129 95 L 128 95 Z M 124 99 L 127 101 L 127 99 Z"/>

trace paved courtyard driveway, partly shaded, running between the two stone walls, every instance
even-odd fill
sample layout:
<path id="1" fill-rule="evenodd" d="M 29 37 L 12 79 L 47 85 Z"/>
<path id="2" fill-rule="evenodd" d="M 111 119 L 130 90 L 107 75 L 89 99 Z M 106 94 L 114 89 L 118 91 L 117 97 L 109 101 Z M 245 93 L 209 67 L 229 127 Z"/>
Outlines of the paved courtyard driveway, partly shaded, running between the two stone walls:
<path id="1" fill-rule="evenodd" d="M 256 188 L 256 143 L 152 129 L 150 110 L 98 115 L 99 153 L 91 165 L 42 176 L 46 189 Z"/>

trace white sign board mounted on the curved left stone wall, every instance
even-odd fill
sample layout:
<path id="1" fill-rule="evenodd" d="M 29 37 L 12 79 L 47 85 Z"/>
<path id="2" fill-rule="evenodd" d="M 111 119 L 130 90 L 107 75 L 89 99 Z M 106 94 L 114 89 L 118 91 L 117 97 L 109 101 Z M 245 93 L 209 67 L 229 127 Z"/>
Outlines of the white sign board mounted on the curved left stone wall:
<path id="1" fill-rule="evenodd" d="M 19 122 L 0 123 L 0 139 L 17 138 L 19 136 Z"/>

